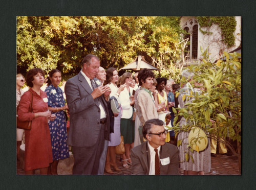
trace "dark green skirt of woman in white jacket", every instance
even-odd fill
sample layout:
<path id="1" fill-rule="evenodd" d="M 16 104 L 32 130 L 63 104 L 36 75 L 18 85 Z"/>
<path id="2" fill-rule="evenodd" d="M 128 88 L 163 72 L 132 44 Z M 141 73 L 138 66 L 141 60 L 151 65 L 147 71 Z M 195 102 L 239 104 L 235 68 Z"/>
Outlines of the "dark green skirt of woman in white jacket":
<path id="1" fill-rule="evenodd" d="M 134 126 L 135 122 L 130 119 L 121 118 L 120 132 L 123 135 L 124 144 L 134 143 Z"/>

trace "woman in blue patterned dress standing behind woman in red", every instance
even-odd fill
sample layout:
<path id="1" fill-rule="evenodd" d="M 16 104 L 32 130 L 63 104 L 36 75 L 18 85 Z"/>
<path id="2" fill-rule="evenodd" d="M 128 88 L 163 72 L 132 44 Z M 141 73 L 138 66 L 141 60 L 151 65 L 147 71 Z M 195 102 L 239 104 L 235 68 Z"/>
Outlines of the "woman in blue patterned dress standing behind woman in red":
<path id="1" fill-rule="evenodd" d="M 58 87 L 60 81 L 60 71 L 58 69 L 51 70 L 45 92 L 48 98 L 49 110 L 56 115 L 56 120 L 49 121 L 53 163 L 50 164 L 48 174 L 52 175 L 58 175 L 57 167 L 59 160 L 69 157 L 67 121 L 64 113 L 64 110 L 68 109 L 68 105 L 63 97 L 63 91 Z"/>

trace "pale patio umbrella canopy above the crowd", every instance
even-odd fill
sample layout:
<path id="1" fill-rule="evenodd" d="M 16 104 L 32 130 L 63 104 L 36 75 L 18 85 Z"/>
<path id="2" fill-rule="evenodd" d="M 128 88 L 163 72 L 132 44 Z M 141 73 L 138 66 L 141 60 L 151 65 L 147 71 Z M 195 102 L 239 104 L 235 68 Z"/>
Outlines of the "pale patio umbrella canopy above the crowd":
<path id="1" fill-rule="evenodd" d="M 140 70 L 143 68 L 148 68 L 151 70 L 159 70 L 158 68 L 152 66 L 150 63 L 148 63 L 144 56 L 137 56 L 136 59 L 132 62 L 127 64 L 126 66 L 122 67 L 121 69 L 133 69 L 133 70 Z"/>

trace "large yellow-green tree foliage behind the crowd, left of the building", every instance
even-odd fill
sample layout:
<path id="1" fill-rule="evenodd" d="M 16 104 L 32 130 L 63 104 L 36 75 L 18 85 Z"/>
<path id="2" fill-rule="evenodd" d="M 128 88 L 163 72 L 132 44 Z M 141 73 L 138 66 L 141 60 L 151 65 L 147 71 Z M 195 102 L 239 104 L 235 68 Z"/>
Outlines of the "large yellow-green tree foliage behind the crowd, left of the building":
<path id="1" fill-rule="evenodd" d="M 175 76 L 180 59 L 180 17 L 18 16 L 17 71 L 58 68 L 75 75 L 89 53 L 105 68 L 121 68 L 143 55 Z M 166 74 L 167 75 L 167 74 Z"/>

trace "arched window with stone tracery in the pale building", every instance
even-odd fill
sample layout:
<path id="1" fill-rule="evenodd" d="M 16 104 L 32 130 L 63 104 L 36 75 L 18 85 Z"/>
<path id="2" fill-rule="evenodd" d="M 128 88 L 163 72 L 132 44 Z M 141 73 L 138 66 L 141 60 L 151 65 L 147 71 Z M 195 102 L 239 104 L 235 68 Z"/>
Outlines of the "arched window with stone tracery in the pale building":
<path id="1" fill-rule="evenodd" d="M 189 51 L 189 57 L 197 59 L 197 49 L 198 49 L 198 22 L 195 18 L 188 19 L 183 25 L 183 29 L 189 34 L 184 36 L 189 38 L 188 47 L 185 52 Z"/>

